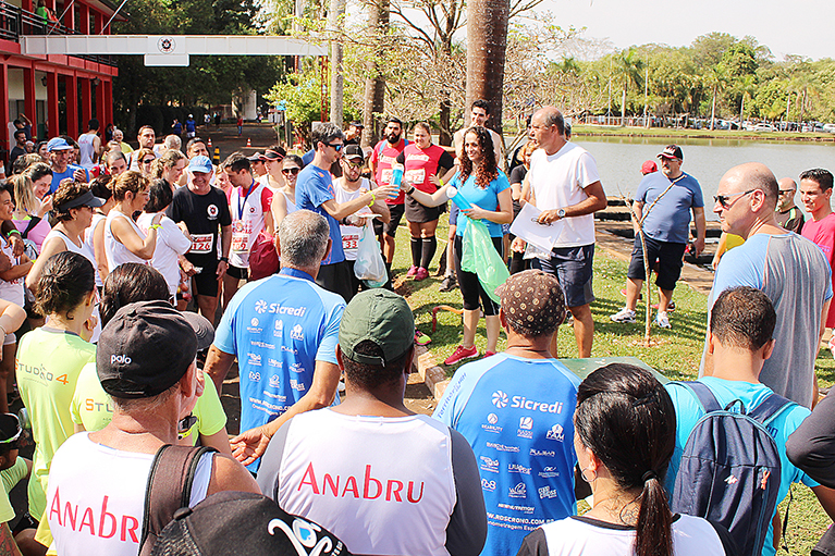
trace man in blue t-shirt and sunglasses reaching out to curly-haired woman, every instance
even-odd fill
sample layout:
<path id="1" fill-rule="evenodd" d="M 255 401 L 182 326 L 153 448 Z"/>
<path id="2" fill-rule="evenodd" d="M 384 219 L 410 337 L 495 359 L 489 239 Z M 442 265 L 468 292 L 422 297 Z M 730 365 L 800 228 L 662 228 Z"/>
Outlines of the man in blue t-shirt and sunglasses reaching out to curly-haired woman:
<path id="1" fill-rule="evenodd" d="M 363 226 L 366 219 L 354 213 L 363 207 L 370 207 L 376 198 L 388 196 L 396 187 L 386 185 L 347 202 L 335 200 L 333 182 L 328 169 L 342 157 L 344 134 L 330 122 L 318 126 L 312 133 L 316 153 L 310 164 L 298 173 L 296 180 L 296 207 L 318 212 L 328 220 L 331 237 L 331 252 L 322 260 L 316 283 L 323 288 L 340 294 L 345 301 L 353 297 L 351 288 L 351 269 L 345 264 L 342 252 L 342 233 L 340 224 Z"/>

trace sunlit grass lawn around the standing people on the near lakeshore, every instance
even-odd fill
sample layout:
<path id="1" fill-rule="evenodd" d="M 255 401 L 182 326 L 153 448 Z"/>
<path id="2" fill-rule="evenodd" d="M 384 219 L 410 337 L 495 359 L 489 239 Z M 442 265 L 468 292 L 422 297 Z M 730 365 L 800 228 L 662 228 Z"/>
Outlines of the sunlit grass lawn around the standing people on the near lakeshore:
<path id="1" fill-rule="evenodd" d="M 446 214 L 444 214 L 438 226 L 439 239 L 446 238 Z M 397 231 L 397 252 L 393 264 L 394 271 L 401 276 L 395 280 L 395 284 L 401 283 L 398 292 L 408 299 L 415 312 L 417 326 L 425 334 L 431 335 L 432 343 L 429 347 L 439 365 L 453 353 L 462 336 L 462 318 L 450 311 L 438 313 L 438 330 L 432 333 L 432 308 L 439 305 L 449 305 L 456 309 L 462 308 L 461 292 L 458 289 L 450 293 L 439 292 L 441 277 L 433 275 L 444 248 L 445 243 L 439 240 L 434 265 L 430 269 L 432 274 L 430 279 L 422 282 L 414 282 L 410 279 L 404 281 L 410 264 L 410 254 L 408 250 L 408 230 L 401 226 Z M 609 319 L 610 314 L 616 312 L 624 305 L 625 298 L 621 295 L 621 289 L 626 281 L 626 262 L 602 250 L 595 252 L 594 295 L 597 300 L 591 306 L 594 318 L 592 356 L 634 356 L 672 380 L 695 379 L 704 344 L 708 319 L 705 296 L 684 284 L 679 285 L 674 296 L 676 310 L 670 316 L 673 329 L 653 329 L 654 345 L 644 348 L 643 313 L 641 312 L 643 306 L 639 307 L 640 323 L 617 324 Z M 476 346 L 481 353 L 484 351 L 487 345 L 483 323 L 482 319 L 476 335 Z M 502 333 L 499 349 L 504 349 L 504 346 L 505 337 Z M 561 357 L 577 357 L 574 331 L 570 326 L 563 325 L 560 328 L 558 346 Z M 441 367 L 443 368 L 442 365 Z M 447 375 L 452 376 L 457 367 L 446 368 Z M 821 385 L 832 386 L 835 382 L 835 360 L 828 351 L 821 353 L 816 369 Z M 795 485 L 793 492 L 794 502 L 789 510 L 786 535 L 788 547 L 791 554 L 809 554 L 810 548 L 818 542 L 831 521 L 809 489 Z M 784 515 L 785 504 L 781 508 L 782 515 Z M 781 549 L 781 552 L 783 551 Z"/>

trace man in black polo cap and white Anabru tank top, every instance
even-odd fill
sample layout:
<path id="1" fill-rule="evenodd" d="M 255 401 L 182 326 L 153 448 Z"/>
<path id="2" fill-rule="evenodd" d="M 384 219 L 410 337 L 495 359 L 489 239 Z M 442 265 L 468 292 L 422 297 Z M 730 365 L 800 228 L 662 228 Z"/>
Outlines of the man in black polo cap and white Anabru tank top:
<path id="1" fill-rule="evenodd" d="M 58 554 L 138 553 L 155 454 L 176 444 L 177 423 L 202 387 L 196 355 L 194 329 L 165 301 L 123 307 L 105 326 L 96 368 L 113 419 L 72 436 L 52 459 L 46 514 Z M 233 458 L 205 454 L 188 505 L 221 491 L 257 485 Z"/>

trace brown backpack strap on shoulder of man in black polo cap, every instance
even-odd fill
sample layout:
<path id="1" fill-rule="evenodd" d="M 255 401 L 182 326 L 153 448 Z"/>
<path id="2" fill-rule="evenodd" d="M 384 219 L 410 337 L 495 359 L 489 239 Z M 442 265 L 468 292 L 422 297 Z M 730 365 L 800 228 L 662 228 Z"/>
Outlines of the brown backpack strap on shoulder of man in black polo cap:
<path id="1" fill-rule="evenodd" d="M 165 444 L 157 450 L 145 491 L 143 535 L 139 556 L 150 555 L 157 538 L 174 519 L 174 512 L 188 507 L 197 464 L 204 454 L 218 452 L 207 446 L 174 446 Z"/>

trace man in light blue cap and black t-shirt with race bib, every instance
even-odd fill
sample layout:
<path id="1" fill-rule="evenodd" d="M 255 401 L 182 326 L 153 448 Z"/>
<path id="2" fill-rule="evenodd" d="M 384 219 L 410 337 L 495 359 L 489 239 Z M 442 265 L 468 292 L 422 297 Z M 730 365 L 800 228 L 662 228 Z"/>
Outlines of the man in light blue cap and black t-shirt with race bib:
<path id="1" fill-rule="evenodd" d="M 209 157 L 193 157 L 187 171 L 191 174 L 188 185 L 174 191 L 174 199 L 167 214 L 174 222 L 185 222 L 188 227 L 192 248 L 185 255 L 189 263 L 186 271 L 194 279 L 192 292 L 197 296 L 200 314 L 213 323 L 214 311 L 218 308 L 218 283 L 229 268 L 232 214 L 229 211 L 226 195 L 210 184 L 214 168 Z"/>

